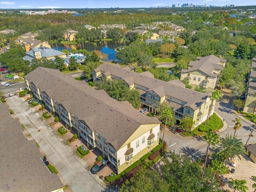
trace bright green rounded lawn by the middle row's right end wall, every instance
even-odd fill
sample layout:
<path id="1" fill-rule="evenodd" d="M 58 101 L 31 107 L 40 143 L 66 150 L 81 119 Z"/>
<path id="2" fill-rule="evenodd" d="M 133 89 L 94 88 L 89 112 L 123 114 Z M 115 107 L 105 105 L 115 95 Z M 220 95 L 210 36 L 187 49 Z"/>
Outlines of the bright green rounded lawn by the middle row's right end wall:
<path id="1" fill-rule="evenodd" d="M 223 127 L 222 120 L 216 115 L 216 113 L 213 113 L 212 116 L 210 116 L 209 122 L 204 128 L 205 122 L 200 124 L 198 126 L 198 131 L 200 132 L 207 132 L 208 130 L 219 130 Z"/>

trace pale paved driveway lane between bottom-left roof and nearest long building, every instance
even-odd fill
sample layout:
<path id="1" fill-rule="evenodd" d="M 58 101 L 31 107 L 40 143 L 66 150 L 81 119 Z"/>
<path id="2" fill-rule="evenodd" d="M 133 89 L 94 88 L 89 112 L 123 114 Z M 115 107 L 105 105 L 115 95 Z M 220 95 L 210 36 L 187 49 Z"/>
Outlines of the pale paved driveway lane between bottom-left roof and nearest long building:
<path id="1" fill-rule="evenodd" d="M 100 192 L 104 190 L 92 174 L 52 134 L 51 128 L 43 124 L 25 102 L 22 102 L 18 96 L 7 98 L 6 102 L 73 192 Z"/>

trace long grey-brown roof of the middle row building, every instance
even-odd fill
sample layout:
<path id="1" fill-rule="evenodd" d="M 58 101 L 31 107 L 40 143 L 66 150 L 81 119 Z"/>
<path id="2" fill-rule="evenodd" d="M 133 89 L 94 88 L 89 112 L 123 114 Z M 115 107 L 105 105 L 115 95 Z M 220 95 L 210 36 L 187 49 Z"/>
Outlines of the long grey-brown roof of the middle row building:
<path id="1" fill-rule="evenodd" d="M 177 82 L 165 82 L 155 78 L 144 76 L 141 73 L 128 71 L 118 66 L 103 63 L 95 69 L 96 72 L 104 71 L 109 74 L 118 76 L 124 80 L 129 80 L 129 85 L 139 84 L 149 90 L 154 90 L 160 97 L 169 95 L 173 98 L 177 98 L 186 102 L 186 105 L 194 110 L 198 109 L 203 102 L 208 98 L 208 95 L 182 87 L 181 84 L 177 85 Z M 132 78 L 131 78 L 132 77 Z M 133 82 L 131 81 L 133 79 Z"/>

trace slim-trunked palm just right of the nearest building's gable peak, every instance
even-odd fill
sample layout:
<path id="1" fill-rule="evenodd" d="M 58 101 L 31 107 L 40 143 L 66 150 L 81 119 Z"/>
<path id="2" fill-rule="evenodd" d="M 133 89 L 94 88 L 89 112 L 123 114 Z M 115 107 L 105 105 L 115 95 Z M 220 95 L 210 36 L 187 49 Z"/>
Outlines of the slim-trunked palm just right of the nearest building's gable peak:
<path id="1" fill-rule="evenodd" d="M 158 105 L 158 107 L 156 108 L 156 114 L 161 122 L 165 121 L 164 132 L 166 129 L 167 122 L 171 125 L 173 125 L 176 122 L 173 110 L 167 103 Z M 164 134 L 162 139 L 164 140 Z"/>

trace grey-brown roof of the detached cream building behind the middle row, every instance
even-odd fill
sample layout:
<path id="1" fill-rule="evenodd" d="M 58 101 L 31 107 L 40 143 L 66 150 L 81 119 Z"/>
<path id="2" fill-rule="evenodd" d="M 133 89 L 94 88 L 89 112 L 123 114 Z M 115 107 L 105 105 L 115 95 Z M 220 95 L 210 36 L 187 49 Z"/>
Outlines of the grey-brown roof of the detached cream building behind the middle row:
<path id="1" fill-rule="evenodd" d="M 221 62 L 226 62 L 224 59 L 220 59 L 214 55 L 209 55 L 206 57 L 197 57 L 199 59 L 197 62 L 196 61 L 190 61 L 188 64 L 191 66 L 190 69 L 182 69 L 181 72 L 192 72 L 196 70 L 200 70 L 207 74 L 208 76 L 211 77 L 217 77 L 218 74 L 213 73 L 214 69 L 221 70 L 222 69 L 222 64 L 218 64 L 220 61 Z"/>

